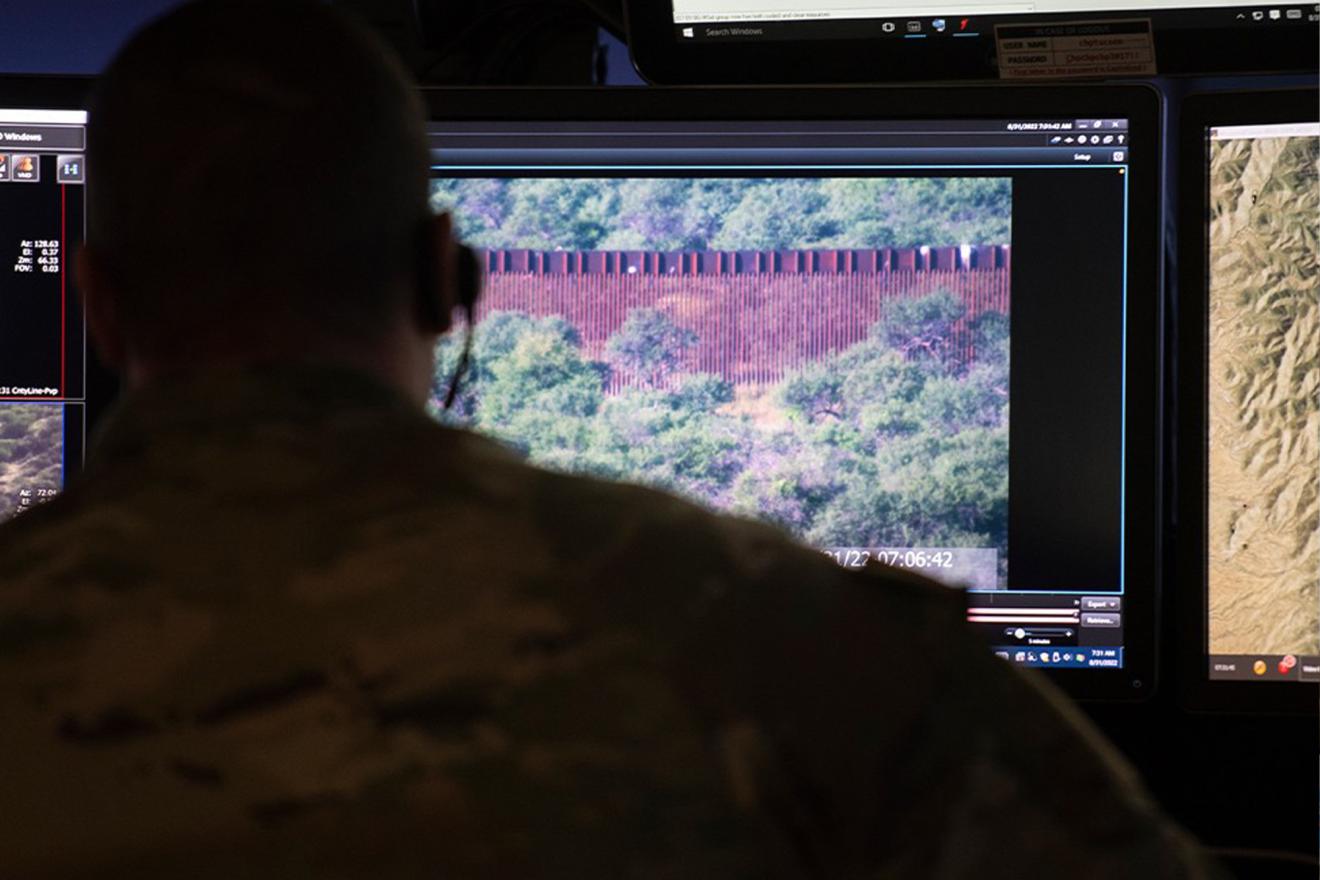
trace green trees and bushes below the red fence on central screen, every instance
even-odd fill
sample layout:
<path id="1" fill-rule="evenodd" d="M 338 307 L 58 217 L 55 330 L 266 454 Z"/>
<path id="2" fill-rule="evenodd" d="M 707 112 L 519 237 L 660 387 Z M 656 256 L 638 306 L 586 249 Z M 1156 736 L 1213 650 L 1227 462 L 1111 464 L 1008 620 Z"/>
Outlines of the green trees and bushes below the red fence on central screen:
<path id="1" fill-rule="evenodd" d="M 783 525 L 818 546 L 1007 550 L 1008 321 L 973 322 L 965 367 L 948 339 L 964 318 L 940 292 L 895 299 L 867 338 L 771 387 L 689 372 L 690 330 L 635 310 L 583 354 L 562 318 L 496 311 L 475 331 L 455 406 L 540 464 L 647 483 Z M 442 400 L 459 340 L 441 343 Z M 611 371 L 634 387 L 607 394 Z"/>

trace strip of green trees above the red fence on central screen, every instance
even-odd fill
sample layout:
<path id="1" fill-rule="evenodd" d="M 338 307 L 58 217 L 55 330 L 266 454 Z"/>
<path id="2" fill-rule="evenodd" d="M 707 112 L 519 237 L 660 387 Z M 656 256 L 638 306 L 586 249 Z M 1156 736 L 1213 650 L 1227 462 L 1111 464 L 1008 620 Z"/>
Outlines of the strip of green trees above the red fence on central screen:
<path id="1" fill-rule="evenodd" d="M 1005 244 L 1008 178 L 451 178 L 480 248 L 738 251 Z"/>

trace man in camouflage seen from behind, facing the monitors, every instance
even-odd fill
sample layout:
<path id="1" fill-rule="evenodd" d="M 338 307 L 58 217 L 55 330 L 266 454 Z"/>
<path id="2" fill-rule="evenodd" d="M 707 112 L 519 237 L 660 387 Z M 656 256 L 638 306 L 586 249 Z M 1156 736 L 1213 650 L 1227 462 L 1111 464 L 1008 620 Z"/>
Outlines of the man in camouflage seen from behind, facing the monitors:
<path id="1" fill-rule="evenodd" d="M 173 12 L 88 139 L 127 393 L 0 529 L 0 876 L 1206 875 L 956 592 L 428 418 L 455 247 L 338 15 Z"/>

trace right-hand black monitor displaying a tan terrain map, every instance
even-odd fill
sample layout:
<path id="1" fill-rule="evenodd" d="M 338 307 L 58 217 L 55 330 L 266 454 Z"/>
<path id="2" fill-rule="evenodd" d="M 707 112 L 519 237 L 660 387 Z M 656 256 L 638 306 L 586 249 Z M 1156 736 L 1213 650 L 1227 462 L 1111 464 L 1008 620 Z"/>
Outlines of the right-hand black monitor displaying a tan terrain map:
<path id="1" fill-rule="evenodd" d="M 1184 677 L 1200 706 L 1313 712 L 1320 95 L 1195 95 L 1183 113 Z"/>

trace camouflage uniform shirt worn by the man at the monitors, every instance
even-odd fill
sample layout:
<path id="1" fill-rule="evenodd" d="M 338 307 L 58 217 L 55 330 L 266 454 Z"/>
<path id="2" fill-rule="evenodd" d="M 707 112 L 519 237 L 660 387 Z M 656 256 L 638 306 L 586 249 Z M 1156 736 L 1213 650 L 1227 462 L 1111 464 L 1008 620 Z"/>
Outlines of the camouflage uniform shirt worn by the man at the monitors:
<path id="1" fill-rule="evenodd" d="M 1195 877 L 953 591 L 354 373 L 123 402 L 0 528 L 0 877 Z"/>

